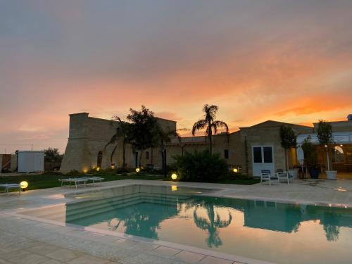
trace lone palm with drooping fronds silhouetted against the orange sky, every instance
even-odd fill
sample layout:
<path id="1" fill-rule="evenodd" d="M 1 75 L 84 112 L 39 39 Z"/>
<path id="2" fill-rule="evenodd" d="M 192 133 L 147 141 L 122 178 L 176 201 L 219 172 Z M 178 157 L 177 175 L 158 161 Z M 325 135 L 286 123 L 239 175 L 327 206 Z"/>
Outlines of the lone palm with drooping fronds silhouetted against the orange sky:
<path id="1" fill-rule="evenodd" d="M 226 132 L 227 133 L 229 132 L 229 127 L 227 127 L 227 124 L 225 122 L 220 120 L 215 120 L 215 115 L 217 111 L 218 111 L 218 106 L 214 106 L 214 105 L 209 106 L 208 104 L 204 105 L 203 107 L 204 118 L 195 122 L 192 128 L 193 135 L 196 134 L 196 131 L 198 130 L 203 130 L 204 128 L 206 129 L 206 139 L 208 139 L 208 142 L 209 142 L 210 154 L 213 152 L 212 136 L 213 134 L 218 133 L 218 128 L 225 127 Z"/>

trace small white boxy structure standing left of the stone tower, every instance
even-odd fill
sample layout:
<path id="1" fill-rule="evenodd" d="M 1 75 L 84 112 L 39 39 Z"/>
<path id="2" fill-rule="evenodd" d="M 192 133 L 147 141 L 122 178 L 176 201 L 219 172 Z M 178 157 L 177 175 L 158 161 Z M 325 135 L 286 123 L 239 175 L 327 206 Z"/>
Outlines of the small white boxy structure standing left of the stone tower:
<path id="1" fill-rule="evenodd" d="M 44 151 L 18 151 L 18 172 L 44 171 Z"/>

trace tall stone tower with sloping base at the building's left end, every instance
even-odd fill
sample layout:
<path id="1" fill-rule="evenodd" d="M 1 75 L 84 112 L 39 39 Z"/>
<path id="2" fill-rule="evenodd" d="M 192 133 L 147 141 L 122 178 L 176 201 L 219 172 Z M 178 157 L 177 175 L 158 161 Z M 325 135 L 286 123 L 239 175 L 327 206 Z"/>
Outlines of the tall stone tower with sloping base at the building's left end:
<path id="1" fill-rule="evenodd" d="M 165 130 L 175 130 L 176 122 L 158 118 L 158 122 Z M 111 153 L 114 145 L 106 144 L 115 134 L 118 122 L 101 118 L 89 117 L 88 113 L 75 113 L 70 115 L 70 129 L 68 144 L 61 164 L 61 172 L 70 170 L 87 171 L 95 168 L 98 162 L 98 154 L 101 151 L 103 159 L 101 168 L 109 168 L 111 163 L 122 166 L 122 142 L 118 142 L 111 161 Z M 146 151 L 149 151 L 149 159 L 146 159 Z M 160 149 L 149 149 L 142 154 L 141 165 L 149 163 L 161 165 Z M 137 151 L 140 154 L 140 151 Z M 126 163 L 128 168 L 135 168 L 135 153 L 132 147 L 126 146 Z"/>

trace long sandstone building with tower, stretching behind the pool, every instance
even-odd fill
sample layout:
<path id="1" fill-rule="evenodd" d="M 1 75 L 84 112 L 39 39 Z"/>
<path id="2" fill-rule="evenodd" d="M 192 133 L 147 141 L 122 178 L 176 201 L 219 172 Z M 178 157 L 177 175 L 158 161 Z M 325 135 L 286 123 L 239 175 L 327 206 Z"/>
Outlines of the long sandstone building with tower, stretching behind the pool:
<path id="1" fill-rule="evenodd" d="M 176 130 L 175 121 L 158 118 L 158 122 L 165 130 Z M 344 148 L 348 150 L 352 146 L 352 121 L 346 120 L 331 123 L 334 137 L 337 138 L 343 135 L 344 139 L 347 140 L 344 142 Z M 114 146 L 108 146 L 108 148 L 104 149 L 108 140 L 114 134 L 116 125 L 118 123 L 111 120 L 89 117 L 88 113 L 70 115 L 68 145 L 65 150 L 61 171 L 86 171 L 96 167 L 109 168 L 111 163 L 120 167 L 122 165 L 121 144 L 118 144 L 118 148 L 112 158 L 111 152 Z M 230 166 L 239 167 L 242 172 L 249 175 L 258 176 L 260 175 L 260 170 L 263 169 L 268 169 L 272 172 L 277 169 L 285 170 L 284 149 L 281 146 L 279 137 L 279 129 L 282 125 L 292 127 L 298 135 L 298 142 L 301 142 L 308 135 L 313 138 L 314 142 L 317 124 L 314 124 L 314 127 L 309 127 L 268 120 L 250 127 L 240 127 L 239 131 L 230 134 L 220 133 L 214 135 L 213 152 L 220 153 L 220 156 L 225 158 Z M 172 164 L 175 155 L 182 155 L 186 151 L 201 151 L 207 148 L 208 143 L 205 137 L 182 137 L 181 141 L 172 139 L 166 146 L 166 160 L 168 164 Z M 346 151 L 346 155 L 347 153 L 350 153 L 350 151 Z M 132 151 L 132 148 L 127 145 L 126 163 L 128 168 L 136 168 L 148 164 L 161 168 L 160 149 L 147 149 L 143 153 L 141 164 L 138 164 L 138 155 L 138 151 Z M 296 149 L 291 149 L 288 157 L 290 167 L 298 165 Z M 343 161 L 344 163 L 350 163 L 348 157 Z M 341 166 L 341 164 L 335 164 L 336 168 Z M 345 169 L 349 168 L 348 164 L 344 164 L 343 167 Z"/>

